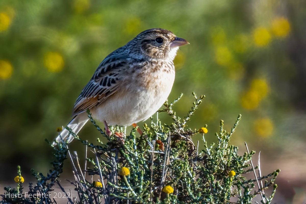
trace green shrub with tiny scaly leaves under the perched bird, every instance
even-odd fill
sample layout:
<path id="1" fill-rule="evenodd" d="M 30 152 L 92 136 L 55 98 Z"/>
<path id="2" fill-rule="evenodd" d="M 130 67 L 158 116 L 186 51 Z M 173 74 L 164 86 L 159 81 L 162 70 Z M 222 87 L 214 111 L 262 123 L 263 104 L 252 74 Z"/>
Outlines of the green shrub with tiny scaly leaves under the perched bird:
<path id="1" fill-rule="evenodd" d="M 67 195 L 70 203 L 254 203 L 256 196 L 261 203 L 271 203 L 277 188 L 274 180 L 280 170 L 267 176 L 254 176 L 255 169 L 260 173 L 259 166 L 251 164 L 255 151 L 247 150 L 240 156 L 238 147 L 230 145 L 241 115 L 230 131 L 224 130 L 223 121 L 220 121 L 220 132 L 215 134 L 217 143 L 208 145 L 205 138 L 211 137 L 211 134 L 203 132 L 207 125 L 201 128 L 202 131 L 187 128 L 187 123 L 192 123 L 191 117 L 205 97 L 201 95 L 198 98 L 192 94 L 195 101 L 184 119 L 173 110 L 181 95 L 170 104 L 165 102 L 164 108 L 159 110 L 173 118 L 172 124 L 162 124 L 158 119 L 154 122 L 151 118 L 151 124 L 135 127 L 129 134 L 125 134 L 124 127 L 110 126 L 112 134 L 106 135 L 88 111 L 90 121 L 107 142 L 97 139 L 97 144 L 89 143 L 70 130 L 75 140 L 94 153 L 93 157 L 87 158 L 86 170 L 82 170 L 77 153 L 71 153 L 67 143 L 58 143 L 54 147 L 50 144 L 56 158 L 52 162 L 53 169 L 46 176 L 32 171 L 37 182 L 30 184 L 28 193 L 49 195 L 57 184 L 67 195 L 59 176 L 63 161 L 69 158 L 75 177 L 72 184 L 78 195 L 77 198 Z M 196 134 L 202 134 L 203 139 L 195 144 L 192 137 Z M 246 176 L 247 173 L 250 175 Z M 20 169 L 18 175 L 21 176 Z M 101 183 L 92 181 L 89 175 L 97 175 Z M 268 196 L 263 190 L 270 186 L 272 193 Z M 173 192 L 169 193 L 169 189 Z M 48 196 L 28 198 L 21 184 L 17 189 L 6 187 L 5 190 L 11 195 L 22 196 L 12 198 L 2 195 L 0 203 L 56 203 Z"/>

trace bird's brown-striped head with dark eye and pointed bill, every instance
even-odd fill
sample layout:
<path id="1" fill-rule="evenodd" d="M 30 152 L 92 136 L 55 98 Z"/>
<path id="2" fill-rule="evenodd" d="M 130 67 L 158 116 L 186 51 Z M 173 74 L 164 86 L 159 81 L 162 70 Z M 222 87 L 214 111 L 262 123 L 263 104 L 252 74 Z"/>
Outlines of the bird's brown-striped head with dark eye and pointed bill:
<path id="1" fill-rule="evenodd" d="M 134 39 L 142 54 L 153 59 L 173 60 L 179 46 L 189 44 L 185 39 L 176 37 L 171 31 L 152 28 L 141 32 Z"/>

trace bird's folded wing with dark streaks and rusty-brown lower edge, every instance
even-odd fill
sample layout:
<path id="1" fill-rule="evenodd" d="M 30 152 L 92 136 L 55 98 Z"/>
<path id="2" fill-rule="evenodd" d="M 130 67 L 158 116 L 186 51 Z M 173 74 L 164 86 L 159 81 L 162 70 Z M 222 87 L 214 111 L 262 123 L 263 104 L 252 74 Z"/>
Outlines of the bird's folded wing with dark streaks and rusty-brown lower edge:
<path id="1" fill-rule="evenodd" d="M 113 55 L 106 57 L 101 62 L 91 80 L 76 99 L 73 116 L 98 106 L 117 92 L 121 84 L 120 80 L 122 80 L 121 72 L 129 69 L 126 58 L 127 56 Z"/>

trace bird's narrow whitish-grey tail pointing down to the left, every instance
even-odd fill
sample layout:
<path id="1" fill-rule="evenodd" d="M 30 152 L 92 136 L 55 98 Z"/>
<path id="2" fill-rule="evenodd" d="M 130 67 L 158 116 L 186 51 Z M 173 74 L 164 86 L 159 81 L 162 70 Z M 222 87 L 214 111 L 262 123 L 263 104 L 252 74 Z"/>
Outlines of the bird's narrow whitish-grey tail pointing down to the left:
<path id="1" fill-rule="evenodd" d="M 72 129 L 72 132 L 74 132 L 75 134 L 77 134 L 78 132 L 80 132 L 80 130 L 83 128 L 83 126 L 86 124 L 86 122 L 88 121 L 88 117 L 86 114 L 78 114 L 76 115 L 67 125 L 69 128 Z M 74 137 L 69 133 L 69 131 L 67 129 L 63 129 L 62 132 L 59 133 L 58 137 L 55 139 L 57 142 L 61 142 L 61 141 L 68 141 L 68 143 L 70 143 L 72 140 L 74 139 Z M 55 142 L 52 143 L 53 145 L 56 145 Z"/>

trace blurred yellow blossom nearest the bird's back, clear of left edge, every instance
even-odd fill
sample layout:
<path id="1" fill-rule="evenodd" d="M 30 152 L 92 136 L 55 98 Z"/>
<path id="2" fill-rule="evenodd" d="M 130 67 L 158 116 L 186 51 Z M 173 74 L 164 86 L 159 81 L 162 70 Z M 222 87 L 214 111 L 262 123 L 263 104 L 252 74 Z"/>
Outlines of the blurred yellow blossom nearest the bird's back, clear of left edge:
<path id="1" fill-rule="evenodd" d="M 60 72 L 64 67 L 64 59 L 57 52 L 47 52 L 44 56 L 44 64 L 50 72 Z"/>

